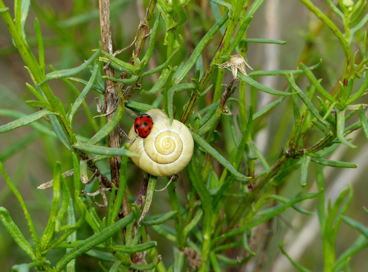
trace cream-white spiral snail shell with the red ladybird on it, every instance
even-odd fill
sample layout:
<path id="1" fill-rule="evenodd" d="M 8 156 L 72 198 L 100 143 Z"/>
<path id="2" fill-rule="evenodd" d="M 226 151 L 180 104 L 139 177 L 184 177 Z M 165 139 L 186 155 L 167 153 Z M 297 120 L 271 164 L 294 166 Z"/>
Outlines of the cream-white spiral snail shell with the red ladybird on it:
<path id="1" fill-rule="evenodd" d="M 153 125 L 146 138 L 138 137 L 129 147 L 130 151 L 141 155 L 132 157 L 139 168 L 154 176 L 171 176 L 183 170 L 192 158 L 194 142 L 189 129 L 181 122 L 173 120 L 159 109 L 146 112 L 151 115 Z M 136 136 L 134 125 L 129 138 Z"/>

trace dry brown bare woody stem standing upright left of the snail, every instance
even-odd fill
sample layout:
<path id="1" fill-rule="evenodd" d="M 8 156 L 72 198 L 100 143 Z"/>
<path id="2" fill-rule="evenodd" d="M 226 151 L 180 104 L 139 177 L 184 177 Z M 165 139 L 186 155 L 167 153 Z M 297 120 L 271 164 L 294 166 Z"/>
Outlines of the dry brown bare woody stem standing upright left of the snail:
<path id="1" fill-rule="evenodd" d="M 102 50 L 113 54 L 113 46 L 111 39 L 111 24 L 110 24 L 110 1 L 109 0 L 99 0 L 100 8 L 100 26 L 101 26 L 101 40 L 102 40 Z M 114 78 L 114 68 L 108 66 L 105 70 L 105 76 Z M 105 80 L 105 96 L 104 96 L 104 108 L 106 112 L 112 112 L 115 108 L 116 103 L 118 103 L 119 96 L 114 83 L 110 80 Z M 114 115 L 114 111 L 106 116 L 106 123 L 110 122 Z M 109 147 L 120 148 L 120 133 L 115 128 L 109 136 L 107 136 L 107 141 Z M 120 175 L 120 161 L 121 157 L 110 158 L 111 167 L 111 181 L 114 183 L 116 188 L 119 188 L 119 175 Z M 117 190 L 116 190 L 117 192 Z M 123 199 L 123 216 L 129 214 L 129 203 L 127 195 L 124 195 Z M 119 215 L 119 217 L 123 217 Z"/>

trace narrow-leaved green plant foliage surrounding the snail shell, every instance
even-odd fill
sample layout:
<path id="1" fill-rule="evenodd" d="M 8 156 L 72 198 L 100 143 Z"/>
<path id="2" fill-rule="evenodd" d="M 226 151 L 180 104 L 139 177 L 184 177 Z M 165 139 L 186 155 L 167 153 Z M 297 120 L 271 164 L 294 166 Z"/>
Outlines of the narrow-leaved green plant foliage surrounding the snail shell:
<path id="1" fill-rule="evenodd" d="M 103 2 L 106 3 L 105 0 Z M 112 18 L 126 2 L 112 1 Z M 354 130 L 362 128 L 368 139 L 368 121 L 364 113 L 367 104 L 362 104 L 359 100 L 367 93 L 368 88 L 367 33 L 364 39 L 358 37 L 358 34 L 362 36 L 361 29 L 368 21 L 367 14 L 363 17 L 366 2 L 339 0 L 339 7 L 336 7 L 332 1 L 327 0 L 331 9 L 342 18 L 344 33 L 311 1 L 300 2 L 332 31 L 343 49 L 344 69 L 338 87 L 331 91 L 321 85 L 321 80 L 317 79 L 313 72 L 320 67 L 321 62 L 310 67 L 300 63 L 300 67 L 290 70 L 258 70 L 248 75 L 238 72 L 238 87 L 233 86 L 234 79 L 227 82 L 225 74 L 228 72 L 219 69 L 218 65 L 229 60 L 233 51 L 246 59 L 248 43 L 286 43 L 279 40 L 246 38 L 247 28 L 263 0 L 255 0 L 252 3 L 244 0 L 232 0 L 230 3 L 211 0 L 210 7 L 215 22 L 207 27 L 200 40 L 185 33 L 188 27 L 194 27 L 188 20 L 188 14 L 192 16 L 197 7 L 193 1 L 150 0 L 145 3 L 148 8 L 137 29 L 135 49 L 131 58 L 127 53 L 128 49 L 119 50 L 114 54 L 103 51 L 105 45 L 100 48 L 101 46 L 97 45 L 99 38 L 96 37 L 93 44 L 97 49 L 93 50 L 94 52 L 84 49 L 91 39 L 87 35 L 86 26 L 99 18 L 99 11 L 92 9 L 82 12 L 82 0 L 74 1 L 74 15 L 59 21 L 54 11 L 41 7 L 36 0 L 15 0 L 13 20 L 9 8 L 0 0 L 0 15 L 32 79 L 33 85 L 27 83 L 26 86 L 37 100 L 28 100 L 26 104 L 41 109 L 30 115 L 15 110 L 0 110 L 1 116 L 16 119 L 0 126 L 0 133 L 25 125 L 31 126 L 38 133 L 32 133 L 10 146 L 10 150 L 0 156 L 1 161 L 22 150 L 36 137 L 58 138 L 67 152 L 63 164 L 55 164 L 53 161 L 53 180 L 47 183 L 47 186 L 43 185 L 45 188 L 53 187 L 50 215 L 43 232 L 36 229 L 26 202 L 0 162 L 1 173 L 21 204 L 32 237 L 32 242 L 29 242 L 8 210 L 0 207 L 0 219 L 4 228 L 32 261 L 29 264 L 15 265 L 13 270 L 28 271 L 35 267 L 37 271 L 60 272 L 66 269 L 72 272 L 76 271 L 75 260 L 86 254 L 104 261 L 99 263 L 104 271 L 107 271 L 105 262 L 111 262 L 113 265 L 110 271 L 157 269 L 159 272 L 166 272 L 172 269 L 179 272 L 183 271 L 187 260 L 188 264 L 198 271 L 212 269 L 219 272 L 254 258 L 256 254 L 248 246 L 248 239 L 262 223 L 269 222 L 290 207 L 301 214 L 310 215 L 312 213 L 304 210 L 298 203 L 316 198 L 322 233 L 324 271 L 340 271 L 344 269 L 343 265 L 346 265 L 346 271 L 350 271 L 350 257 L 368 246 L 368 230 L 361 223 L 344 216 L 353 197 L 352 186 L 344 189 L 333 205 L 329 201 L 328 207 L 325 207 L 323 167 L 356 168 L 357 165 L 323 157 L 335 151 L 339 145 L 357 147 L 351 143 L 351 138 L 345 138 Z M 51 67 L 52 71 L 46 74 L 45 70 L 48 68 L 45 67 L 44 47 L 48 39 L 42 37 L 38 19 L 35 19 L 34 24 L 36 43 L 31 43 L 27 37 L 29 34 L 25 31 L 31 6 L 42 24 L 55 33 L 57 43 L 72 46 L 75 54 L 87 61 L 78 67 L 58 71 Z M 101 28 L 104 29 L 103 20 L 101 22 Z M 76 40 L 70 29 L 82 30 L 81 39 Z M 216 38 L 218 32 L 222 35 L 219 42 Z M 107 34 L 102 32 L 102 35 Z M 142 48 L 146 39 L 148 46 L 144 50 Z M 197 44 L 191 51 L 187 49 L 189 42 Z M 358 51 L 352 54 L 352 46 L 356 43 L 363 43 L 362 56 L 358 55 Z M 31 50 L 32 44 L 38 48 L 38 60 Z M 123 47 L 123 44 L 119 43 L 118 46 Z M 217 47 L 217 50 L 209 47 Z M 190 53 L 188 58 L 185 56 L 187 50 Z M 213 53 L 206 69 L 203 61 L 205 50 Z M 145 51 L 142 56 L 141 51 Z M 166 57 L 163 57 L 165 55 Z M 358 57 L 362 60 L 355 64 Z M 153 60 L 155 61 L 152 63 L 161 61 L 162 64 L 152 67 L 149 62 Z M 196 72 L 192 72 L 194 66 Z M 115 78 L 107 75 L 106 71 L 105 75 L 102 75 L 101 68 L 106 71 L 120 71 L 121 76 Z M 88 73 L 85 71 L 88 70 L 91 74 L 88 80 L 74 77 L 78 74 L 84 77 Z M 231 71 L 231 68 L 227 70 Z M 156 73 L 160 73 L 160 76 L 156 82 L 151 82 L 148 76 Z M 192 83 L 189 83 L 188 78 L 191 75 Z M 271 89 L 257 81 L 258 76 L 275 75 L 285 76 L 288 86 L 284 91 Z M 300 87 L 300 78 L 304 75 L 311 82 L 306 92 Z M 55 79 L 61 79 L 70 88 L 70 93 L 78 96 L 69 108 L 64 104 L 70 101 L 63 102 L 50 87 Z M 73 82 L 85 85 L 82 92 L 79 92 Z M 226 88 L 222 93 L 224 83 Z M 114 104 L 109 104 L 111 100 L 107 100 L 109 84 L 116 88 Z M 246 91 L 247 85 L 250 86 L 249 91 Z M 275 96 L 275 100 L 259 108 L 258 91 Z M 316 96 L 316 91 L 319 96 Z M 98 96 L 98 111 L 102 113 L 98 116 L 99 119 L 93 118 L 86 103 L 90 92 L 95 92 L 93 95 Z M 184 96 L 187 94 L 186 104 L 182 102 L 183 96 L 179 94 L 181 92 Z M 234 97 L 236 93 L 238 99 Z M 247 103 L 246 94 L 250 96 Z M 179 95 L 180 99 L 177 99 Z M 105 100 L 102 107 L 99 106 L 99 99 L 103 97 Z M 359 101 L 355 102 L 357 100 Z M 289 118 L 285 111 L 282 118 L 286 122 L 292 119 L 293 128 L 288 132 L 287 142 L 283 144 L 275 140 L 277 148 L 285 146 L 282 153 L 274 152 L 273 156 L 266 158 L 259 151 L 254 139 L 274 108 L 280 103 L 289 103 L 288 101 L 292 104 L 293 117 Z M 135 117 L 149 109 L 160 108 L 161 103 L 171 122 L 174 118 L 180 119 L 191 129 L 195 150 L 189 165 L 179 173 L 188 191 L 185 196 L 186 205 L 178 197 L 176 184 L 170 183 L 167 192 L 171 211 L 154 215 L 152 212 L 150 214 L 148 209 L 155 194 L 157 177 L 145 173 L 141 191 L 136 198 L 132 197 L 128 186 L 131 182 L 126 174 L 127 164 L 131 162 L 130 158 L 137 154 L 127 150 L 130 144 L 128 142 L 124 142 L 122 147 L 112 146 L 111 137 L 114 137 L 112 135 L 116 127 L 120 128 L 120 123 L 127 127 L 133 123 L 133 119 L 127 122 L 123 120 L 124 113 L 128 112 Z M 87 117 L 84 119 L 86 124 L 82 127 L 77 125 L 81 105 Z M 106 112 L 109 107 L 113 108 L 113 111 Z M 233 114 L 232 111 L 239 114 Z M 355 112 L 358 112 L 360 121 L 346 126 L 346 122 Z M 106 119 L 106 115 L 110 115 L 110 118 Z M 49 124 L 38 121 L 41 118 Z M 323 136 L 315 140 L 314 135 L 318 133 Z M 116 139 L 120 141 L 119 136 Z M 226 148 L 219 148 L 222 141 L 226 143 Z M 311 141 L 314 143 L 310 144 Z M 110 159 L 113 168 L 112 161 L 116 156 L 119 157 L 120 164 L 118 180 L 113 177 L 113 170 L 110 172 L 107 167 Z M 64 173 L 61 171 L 71 164 L 71 170 Z M 222 172 L 218 170 L 219 165 L 223 166 L 220 168 Z M 312 172 L 311 165 L 316 168 L 318 190 L 302 193 L 305 186 L 310 187 L 308 174 Z M 298 187 L 297 191 L 300 193 L 292 197 L 282 196 L 280 191 L 286 185 L 286 177 L 299 168 L 301 187 Z M 88 171 L 92 171 L 93 175 Z M 71 175 L 74 182 L 67 179 Z M 294 183 L 294 186 L 298 185 Z M 92 188 L 96 188 L 96 193 L 91 193 Z M 107 191 L 111 191 L 109 200 L 105 194 Z M 90 196 L 93 196 L 93 202 Z M 104 204 L 96 201 L 95 197 L 100 196 Z M 95 204 L 106 209 L 107 217 L 104 216 L 101 220 Z M 166 224 L 171 219 L 174 219 L 174 228 Z M 337 257 L 335 246 L 341 221 L 357 229 L 361 236 Z M 85 222 L 93 234 L 77 240 L 77 233 Z M 168 241 L 175 244 L 174 262 L 171 266 L 165 267 L 160 262 L 162 257 L 156 248 L 158 243 L 149 240 L 148 233 L 152 231 L 164 237 L 164 245 L 169 243 Z M 50 262 L 47 260 L 50 251 L 56 248 L 64 248 L 66 252 L 56 262 Z M 289 257 L 283 249 L 283 243 L 280 244 L 280 249 L 297 269 L 310 271 Z M 236 259 L 233 258 L 235 254 L 238 254 Z"/>

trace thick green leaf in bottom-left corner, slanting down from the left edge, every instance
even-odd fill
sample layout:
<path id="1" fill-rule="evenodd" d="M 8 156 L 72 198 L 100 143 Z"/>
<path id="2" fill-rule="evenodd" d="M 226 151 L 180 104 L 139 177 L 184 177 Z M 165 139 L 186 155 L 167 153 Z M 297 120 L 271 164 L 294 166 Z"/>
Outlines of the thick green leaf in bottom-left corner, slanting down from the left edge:
<path id="1" fill-rule="evenodd" d="M 20 248 L 29 256 L 33 261 L 37 261 L 35 257 L 36 250 L 31 246 L 30 243 L 24 238 L 17 225 L 11 219 L 9 212 L 6 208 L 0 207 L 0 220 L 4 225 L 4 228 L 9 233 L 11 238 L 18 244 Z"/>

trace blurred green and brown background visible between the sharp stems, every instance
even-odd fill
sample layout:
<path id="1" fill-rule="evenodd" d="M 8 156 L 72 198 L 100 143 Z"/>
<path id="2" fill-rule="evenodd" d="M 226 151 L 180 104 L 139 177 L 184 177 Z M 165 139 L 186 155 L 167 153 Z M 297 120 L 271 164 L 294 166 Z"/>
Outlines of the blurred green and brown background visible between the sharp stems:
<path id="1" fill-rule="evenodd" d="M 14 14 L 12 10 L 14 2 L 5 0 L 4 3 L 7 7 L 10 7 L 10 13 Z M 134 40 L 135 31 L 139 21 L 144 17 L 147 4 L 148 1 L 146 0 L 111 1 L 114 51 L 124 48 Z M 314 4 L 321 8 L 322 11 L 332 15 L 325 1 L 314 1 Z M 188 21 L 181 29 L 185 46 L 182 47 L 180 53 L 174 59 L 176 65 L 180 65 L 183 59 L 187 59 L 190 56 L 195 45 L 215 22 L 208 0 L 193 0 L 185 9 L 188 14 Z M 91 56 L 91 50 L 99 47 L 100 28 L 98 15 L 98 1 L 96 0 L 31 1 L 31 10 L 25 26 L 27 39 L 33 53 L 37 56 L 36 39 L 33 31 L 34 18 L 37 17 L 40 20 L 45 43 L 46 73 L 51 71 L 48 64 L 52 64 L 56 69 L 66 69 L 80 65 Z M 338 23 L 339 20 L 336 14 L 333 14 L 331 19 L 337 22 L 338 26 L 342 26 L 342 24 Z M 161 23 L 160 27 L 164 29 L 164 24 L 163 22 Z M 357 33 L 357 44 L 362 44 L 362 35 L 365 30 L 362 29 L 360 33 Z M 164 31 L 159 32 L 158 41 L 163 41 L 163 33 Z M 309 66 L 318 63 L 319 59 L 322 58 L 322 65 L 314 71 L 316 78 L 323 78 L 322 85 L 326 90 L 331 90 L 338 86 L 339 76 L 343 70 L 343 51 L 335 36 L 328 29 L 321 26 L 318 19 L 299 1 L 265 0 L 251 21 L 247 37 L 287 41 L 285 45 L 249 43 L 247 62 L 253 68 L 263 70 L 293 69 L 300 60 Z M 202 53 L 202 63 L 201 60 L 197 62 L 198 68 L 207 67 L 220 39 L 220 33 L 217 33 Z M 128 61 L 132 49 L 125 50 L 118 57 Z M 358 47 L 355 49 L 358 49 Z M 165 56 L 166 46 L 162 43 L 156 44 L 149 67 L 156 67 L 163 63 Z M 358 54 L 356 63 L 360 61 L 361 55 Z M 193 74 L 193 71 L 191 73 Z M 88 71 L 78 75 L 79 78 L 86 80 L 88 80 L 89 76 Z M 158 75 L 147 77 L 143 82 L 142 89 L 149 90 L 157 79 Z M 231 74 L 226 72 L 224 82 L 229 82 L 230 79 Z M 283 91 L 286 87 L 284 76 L 260 77 L 257 80 L 263 85 L 276 90 Z M 307 84 L 306 78 L 300 76 L 298 80 L 298 85 L 304 90 Z M 24 69 L 24 62 L 19 56 L 17 49 L 13 46 L 11 36 L 3 20 L 0 20 L 0 108 L 15 109 L 26 114 L 35 112 L 35 108 L 24 103 L 25 100 L 32 99 L 31 93 L 26 88 L 26 82 L 31 82 L 31 79 L 26 69 Z M 75 85 L 79 90 L 82 90 L 84 87 L 80 83 L 75 83 Z M 53 80 L 50 82 L 50 87 L 66 106 L 70 105 L 77 97 L 77 94 L 61 80 Z M 235 93 L 235 97 L 237 95 Z M 91 92 L 86 98 L 86 102 L 92 114 L 98 115 L 95 97 L 97 97 L 97 93 Z M 139 94 L 138 92 L 132 97 L 132 100 L 146 104 L 152 104 L 155 99 L 155 95 Z M 259 92 L 260 105 L 265 105 L 272 99 L 274 97 Z M 176 118 L 181 115 L 181 109 L 186 102 L 186 94 L 177 94 L 175 96 Z M 364 99 L 359 102 L 364 103 Z M 199 101 L 198 108 L 211 103 L 212 93 L 208 92 Z M 255 139 L 256 145 L 270 162 L 274 162 L 277 156 L 280 155 L 289 131 L 293 126 L 292 117 L 287 121 L 280 120 L 284 112 L 289 112 L 290 117 L 293 114 L 291 99 L 289 98 L 286 98 L 283 103 L 270 112 L 267 118 L 263 119 L 262 122 L 264 122 L 265 128 L 258 133 Z M 235 117 L 236 114 L 237 109 L 234 109 L 233 116 Z M 77 112 L 76 120 L 75 130 L 82 136 L 91 137 L 93 128 L 82 109 Z M 10 121 L 12 119 L 1 117 L 0 125 Z M 97 121 L 103 122 L 102 119 Z M 356 121 L 358 121 L 358 116 L 354 115 L 347 125 Z M 46 121 L 41 120 L 40 122 L 49 126 Z M 133 122 L 134 119 L 125 111 L 120 123 L 121 128 L 124 131 L 128 131 Z M 226 127 L 221 122 L 218 130 L 222 136 L 226 134 L 226 131 L 224 131 Z M 224 138 L 222 137 L 222 140 L 216 144 L 216 149 L 226 152 L 228 146 Z M 312 144 L 316 139 L 318 140 L 318 135 L 315 135 L 314 138 L 309 138 L 310 143 Z M 325 179 L 328 187 L 326 191 L 328 192 L 327 195 L 332 200 L 335 200 L 341 190 L 347 186 L 348 182 L 352 182 L 354 198 L 346 215 L 367 225 L 368 216 L 364 213 L 362 206 L 368 207 L 366 170 L 368 167 L 368 144 L 361 130 L 355 132 L 353 141 L 354 144 L 358 145 L 357 149 L 353 150 L 341 145 L 336 153 L 333 154 L 332 160 L 353 162 L 358 164 L 358 168 L 340 169 L 325 167 Z M 15 146 L 15 143 L 18 143 L 17 146 Z M 22 145 L 20 146 L 19 143 L 22 143 Z M 13 182 L 24 197 L 35 222 L 36 230 L 42 231 L 47 223 L 52 191 L 42 191 L 36 188 L 41 183 L 52 179 L 53 167 L 57 160 L 62 162 L 63 172 L 72 168 L 70 152 L 66 150 L 59 140 L 41 135 L 25 126 L 9 133 L 0 134 L 0 160 L 5 163 L 5 167 Z M 105 169 L 108 172 L 108 163 L 100 162 L 100 169 Z M 216 169 L 216 164 L 214 164 L 214 170 L 220 175 L 222 167 L 217 165 Z M 136 197 L 143 180 L 143 171 L 130 164 L 127 177 L 130 195 Z M 177 182 L 178 197 L 183 205 L 186 204 L 185 196 L 188 190 L 185 179 L 186 176 L 181 175 Z M 316 190 L 314 179 L 313 175 L 308 176 L 305 192 Z M 297 193 L 299 190 L 298 180 L 299 174 L 296 172 L 288 176 L 286 186 L 283 188 L 283 195 L 291 196 Z M 67 181 L 71 182 L 71 180 Z M 157 187 L 164 187 L 165 183 L 164 179 L 159 179 Z M 94 189 L 91 188 L 91 190 L 93 191 Z M 98 197 L 97 200 L 102 201 Z M 304 202 L 302 207 L 311 211 L 315 210 L 315 200 Z M 0 206 L 7 208 L 26 239 L 31 240 L 20 204 L 7 187 L 2 176 L 0 177 Z M 150 213 L 158 214 L 170 210 L 171 206 L 167 193 L 165 191 L 156 192 L 153 196 Z M 101 218 L 107 214 L 107 208 L 96 207 L 96 211 Z M 169 222 L 170 224 L 173 223 Z M 323 271 L 322 245 L 316 215 L 305 216 L 297 214 L 294 210 L 287 210 L 272 221 L 260 225 L 255 232 L 262 232 L 262 228 L 265 228 L 266 224 L 272 224 L 272 232 L 264 234 L 269 235 L 269 239 L 271 239 L 266 254 L 256 255 L 251 262 L 240 268 L 230 267 L 229 271 L 259 271 L 259 269 L 272 272 L 296 271 L 295 268 L 290 266 L 289 261 L 280 254 L 277 245 L 282 240 L 286 240 L 285 248 L 294 260 L 299 260 L 302 265 L 315 272 Z M 78 240 L 85 239 L 91 234 L 92 230 L 85 222 L 78 229 Z M 151 240 L 158 241 L 157 249 L 162 254 L 163 263 L 168 267 L 173 262 L 173 243 L 163 239 L 156 233 L 150 232 L 149 234 Z M 336 245 L 337 255 L 348 248 L 358 236 L 359 233 L 357 231 L 342 224 Z M 261 250 L 261 243 L 262 241 L 253 239 L 250 241 L 250 247 L 252 250 Z M 64 251 L 63 249 L 51 251 L 48 255 L 48 260 L 50 262 L 59 260 Z M 11 271 L 12 265 L 24 262 L 29 262 L 28 256 L 15 244 L 3 226 L 0 225 L 0 271 Z M 355 255 L 350 264 L 352 271 L 367 271 L 368 249 Z M 77 271 L 102 270 L 98 267 L 96 259 L 82 255 L 77 258 Z"/>

